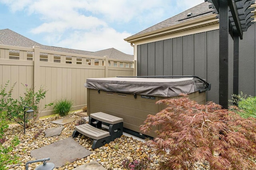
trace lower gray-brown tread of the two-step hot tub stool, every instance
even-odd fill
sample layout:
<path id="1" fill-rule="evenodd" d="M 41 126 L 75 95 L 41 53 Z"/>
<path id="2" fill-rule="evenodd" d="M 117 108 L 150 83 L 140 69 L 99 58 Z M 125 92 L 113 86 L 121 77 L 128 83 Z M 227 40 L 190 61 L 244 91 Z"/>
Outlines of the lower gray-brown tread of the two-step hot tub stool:
<path id="1" fill-rule="evenodd" d="M 75 127 L 75 129 L 79 133 L 96 140 L 110 136 L 110 133 L 108 131 L 103 131 L 101 129 L 93 127 L 88 123 L 83 125 L 78 125 Z"/>

